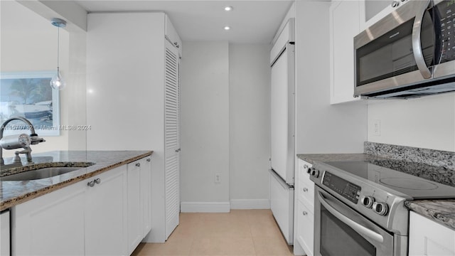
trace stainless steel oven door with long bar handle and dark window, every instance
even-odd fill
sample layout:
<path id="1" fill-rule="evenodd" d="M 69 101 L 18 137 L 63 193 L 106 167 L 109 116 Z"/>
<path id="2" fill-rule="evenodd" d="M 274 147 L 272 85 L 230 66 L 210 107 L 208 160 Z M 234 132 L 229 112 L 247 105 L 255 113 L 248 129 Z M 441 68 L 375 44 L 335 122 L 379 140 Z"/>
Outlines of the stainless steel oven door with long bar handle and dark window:
<path id="1" fill-rule="evenodd" d="M 394 255 L 393 234 L 315 187 L 314 255 Z"/>

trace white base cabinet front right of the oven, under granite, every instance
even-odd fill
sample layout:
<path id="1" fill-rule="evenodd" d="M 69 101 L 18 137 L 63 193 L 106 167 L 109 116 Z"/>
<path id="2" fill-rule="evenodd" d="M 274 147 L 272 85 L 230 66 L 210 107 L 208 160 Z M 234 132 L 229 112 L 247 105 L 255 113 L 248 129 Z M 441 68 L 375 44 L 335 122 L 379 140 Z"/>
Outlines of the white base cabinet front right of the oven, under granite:
<path id="1" fill-rule="evenodd" d="M 455 230 L 410 212 L 409 255 L 454 256 Z"/>

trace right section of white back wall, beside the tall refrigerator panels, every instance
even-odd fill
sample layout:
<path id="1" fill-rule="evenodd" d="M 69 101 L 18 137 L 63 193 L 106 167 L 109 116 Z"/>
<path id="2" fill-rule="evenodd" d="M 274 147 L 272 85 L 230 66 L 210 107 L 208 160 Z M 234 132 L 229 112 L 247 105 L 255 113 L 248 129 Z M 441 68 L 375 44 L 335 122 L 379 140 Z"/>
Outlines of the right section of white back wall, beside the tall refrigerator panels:
<path id="1" fill-rule="evenodd" d="M 230 44 L 231 208 L 269 208 L 269 44 Z"/>

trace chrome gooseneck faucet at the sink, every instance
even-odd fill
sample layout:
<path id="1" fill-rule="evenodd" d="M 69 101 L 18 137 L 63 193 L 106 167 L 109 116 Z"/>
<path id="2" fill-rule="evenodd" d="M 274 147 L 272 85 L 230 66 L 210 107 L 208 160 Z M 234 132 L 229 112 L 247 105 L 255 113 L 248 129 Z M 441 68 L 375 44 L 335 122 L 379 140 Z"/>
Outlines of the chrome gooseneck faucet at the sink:
<path id="1" fill-rule="evenodd" d="M 11 117 L 7 119 L 3 124 L 1 124 L 0 127 L 0 166 L 4 166 L 5 162 L 3 159 L 3 149 L 6 144 L 6 142 L 2 142 L 3 137 L 3 132 L 5 130 L 5 127 L 9 122 L 13 120 L 20 120 L 28 125 L 28 128 L 30 129 L 30 136 L 26 134 L 20 134 L 17 137 L 18 142 L 15 142 L 14 144 L 9 144 L 9 146 L 5 149 L 18 149 L 18 148 L 23 148 L 23 151 L 16 151 L 16 158 L 14 159 L 14 163 L 21 163 L 20 158 L 18 157 L 18 154 L 26 154 L 26 159 L 27 163 L 33 163 L 31 159 L 31 148 L 30 145 L 36 145 L 40 142 L 45 142 L 43 138 L 38 137 L 38 134 L 35 133 L 35 128 L 33 128 L 33 124 L 31 124 L 30 121 L 28 121 L 24 117 Z"/>

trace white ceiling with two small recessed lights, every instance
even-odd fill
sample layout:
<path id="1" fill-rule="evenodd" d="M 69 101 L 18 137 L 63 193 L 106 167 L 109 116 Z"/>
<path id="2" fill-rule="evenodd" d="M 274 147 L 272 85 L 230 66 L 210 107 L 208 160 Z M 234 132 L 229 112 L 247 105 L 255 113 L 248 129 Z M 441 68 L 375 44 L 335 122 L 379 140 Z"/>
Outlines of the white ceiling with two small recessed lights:
<path id="1" fill-rule="evenodd" d="M 183 41 L 270 43 L 294 0 L 75 0 L 87 12 L 164 11 Z M 224 11 L 232 6 L 232 11 Z M 223 28 L 230 26 L 229 31 Z"/>

